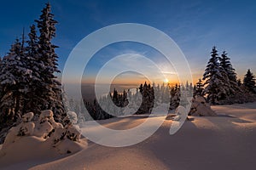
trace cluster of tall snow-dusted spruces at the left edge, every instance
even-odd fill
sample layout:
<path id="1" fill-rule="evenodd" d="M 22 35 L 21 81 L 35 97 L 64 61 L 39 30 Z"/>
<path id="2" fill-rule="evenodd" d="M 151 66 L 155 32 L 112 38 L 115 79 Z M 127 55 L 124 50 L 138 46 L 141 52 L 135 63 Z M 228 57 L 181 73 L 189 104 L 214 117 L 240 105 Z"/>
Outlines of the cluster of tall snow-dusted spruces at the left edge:
<path id="1" fill-rule="evenodd" d="M 54 15 L 47 3 L 36 25 L 30 26 L 27 37 L 23 31 L 0 58 L 0 130 L 11 127 L 20 117 L 32 111 L 36 117 L 40 111 L 52 110 L 55 121 L 65 116 L 61 99 L 61 82 L 55 77 L 57 67 L 57 46 Z"/>

